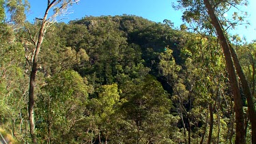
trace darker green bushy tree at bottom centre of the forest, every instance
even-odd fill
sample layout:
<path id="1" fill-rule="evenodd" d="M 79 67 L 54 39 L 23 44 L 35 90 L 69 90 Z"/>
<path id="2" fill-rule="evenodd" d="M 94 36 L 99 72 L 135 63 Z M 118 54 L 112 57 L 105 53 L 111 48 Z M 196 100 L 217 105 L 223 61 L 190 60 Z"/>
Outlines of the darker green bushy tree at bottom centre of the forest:
<path id="1" fill-rule="evenodd" d="M 126 143 L 171 143 L 171 100 L 162 85 L 147 75 L 124 83 L 121 89 L 124 102 L 121 111 L 126 119 L 122 131 Z"/>

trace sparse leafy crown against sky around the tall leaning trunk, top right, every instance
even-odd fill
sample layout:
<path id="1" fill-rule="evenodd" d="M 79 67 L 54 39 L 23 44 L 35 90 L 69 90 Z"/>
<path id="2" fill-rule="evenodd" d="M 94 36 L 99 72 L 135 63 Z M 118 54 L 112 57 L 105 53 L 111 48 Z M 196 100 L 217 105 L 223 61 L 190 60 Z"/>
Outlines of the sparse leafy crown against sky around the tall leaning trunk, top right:
<path id="1" fill-rule="evenodd" d="M 173 7 L 183 10 L 182 20 L 188 23 L 194 31 L 212 34 L 213 27 L 211 26 L 211 20 L 206 12 L 203 1 L 182 0 L 177 1 L 177 3 Z M 229 28 L 234 29 L 237 25 L 244 23 L 246 12 L 243 12 L 241 5 L 247 5 L 247 3 L 248 1 L 246 0 L 211 1 L 212 7 L 225 30 Z M 228 16 L 230 12 L 233 12 L 233 14 L 230 14 L 232 16 Z"/>

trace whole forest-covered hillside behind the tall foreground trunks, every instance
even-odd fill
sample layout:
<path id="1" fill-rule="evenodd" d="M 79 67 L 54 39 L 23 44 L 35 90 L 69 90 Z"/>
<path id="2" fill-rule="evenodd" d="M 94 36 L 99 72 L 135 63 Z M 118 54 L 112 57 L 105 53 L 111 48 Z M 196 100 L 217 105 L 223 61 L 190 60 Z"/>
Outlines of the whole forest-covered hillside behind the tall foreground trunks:
<path id="1" fill-rule="evenodd" d="M 1 29 L 0 126 L 20 143 L 31 143 L 27 95 L 32 35 L 40 24 Z M 172 26 L 130 15 L 51 25 L 36 73 L 38 143 L 234 141 L 233 99 L 217 38 Z M 252 89 L 255 61 L 247 56 L 255 59 L 255 48 L 236 45 Z"/>

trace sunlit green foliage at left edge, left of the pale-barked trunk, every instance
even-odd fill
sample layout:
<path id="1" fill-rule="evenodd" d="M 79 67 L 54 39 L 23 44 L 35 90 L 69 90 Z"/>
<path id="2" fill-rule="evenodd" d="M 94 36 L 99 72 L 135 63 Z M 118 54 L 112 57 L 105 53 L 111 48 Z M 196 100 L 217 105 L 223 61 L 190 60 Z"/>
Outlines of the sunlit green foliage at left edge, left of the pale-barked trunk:
<path id="1" fill-rule="evenodd" d="M 16 42 L 14 34 L 8 25 L 1 25 L 0 38 L 0 125 L 10 132 L 16 128 L 16 121 L 23 121 L 26 115 L 25 94 L 27 91 L 27 76 L 25 75 L 25 58 L 23 46 Z M 16 132 L 20 134 L 20 132 Z"/>

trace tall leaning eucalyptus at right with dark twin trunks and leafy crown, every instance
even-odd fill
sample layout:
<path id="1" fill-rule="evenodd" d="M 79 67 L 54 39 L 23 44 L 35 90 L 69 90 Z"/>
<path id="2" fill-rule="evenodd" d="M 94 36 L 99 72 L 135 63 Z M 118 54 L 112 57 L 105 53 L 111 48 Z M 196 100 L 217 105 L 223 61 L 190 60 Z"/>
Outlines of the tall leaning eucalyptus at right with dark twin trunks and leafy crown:
<path id="1" fill-rule="evenodd" d="M 223 48 L 225 55 L 225 63 L 227 72 L 229 74 L 229 83 L 231 85 L 231 91 L 233 94 L 233 100 L 235 104 L 236 112 L 236 143 L 245 143 L 245 130 L 244 130 L 244 111 L 242 107 L 242 97 L 238 86 L 238 80 L 236 78 L 236 70 L 238 76 L 242 82 L 242 88 L 248 101 L 248 109 L 250 113 L 250 119 L 252 123 L 252 143 L 255 143 L 255 109 L 253 106 L 253 99 L 251 91 L 248 89 L 248 83 L 245 76 L 240 68 L 236 53 L 231 48 L 231 44 L 227 37 L 227 29 L 234 27 L 244 19 L 242 16 L 238 16 L 237 12 L 233 14 L 233 22 L 230 22 L 223 15 L 228 12 L 231 8 L 237 8 L 238 5 L 247 5 L 246 0 L 234 1 L 221 1 L 221 0 L 180 0 L 179 5 L 176 8 L 184 8 L 183 20 L 187 23 L 193 24 L 194 30 L 202 32 L 204 35 L 211 35 L 216 33 L 218 40 Z M 227 29 L 224 29 L 227 28 Z M 233 61 L 232 61 L 233 57 Z"/>

